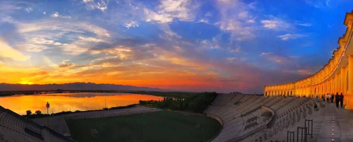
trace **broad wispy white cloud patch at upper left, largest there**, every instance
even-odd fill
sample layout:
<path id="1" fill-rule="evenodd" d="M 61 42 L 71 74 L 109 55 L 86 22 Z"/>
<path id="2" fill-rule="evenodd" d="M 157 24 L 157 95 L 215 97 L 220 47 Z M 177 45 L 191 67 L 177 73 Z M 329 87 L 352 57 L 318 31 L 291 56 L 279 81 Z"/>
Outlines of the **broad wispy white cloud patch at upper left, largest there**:
<path id="1" fill-rule="evenodd" d="M 72 22 L 67 19 L 40 20 L 36 23 L 19 23 L 18 32 L 24 36 L 25 41 L 18 44 L 23 51 L 39 52 L 44 49 L 59 49 L 65 54 L 80 54 L 98 42 L 110 43 L 110 34 L 106 29 L 86 23 Z M 84 37 L 82 33 L 92 32 L 94 36 Z M 71 43 L 57 42 L 65 38 Z"/>

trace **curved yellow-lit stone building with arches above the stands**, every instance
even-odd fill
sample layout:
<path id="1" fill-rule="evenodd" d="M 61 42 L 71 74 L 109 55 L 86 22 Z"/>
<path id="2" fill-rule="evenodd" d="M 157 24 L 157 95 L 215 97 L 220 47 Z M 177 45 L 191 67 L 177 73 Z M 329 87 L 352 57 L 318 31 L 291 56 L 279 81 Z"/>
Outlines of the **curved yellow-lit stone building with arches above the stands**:
<path id="1" fill-rule="evenodd" d="M 322 69 L 301 80 L 265 86 L 264 95 L 320 95 L 321 98 L 323 94 L 339 92 L 345 95 L 345 108 L 353 109 L 353 10 L 346 13 L 343 24 L 347 26 L 346 33 L 338 39 L 339 47 Z"/>

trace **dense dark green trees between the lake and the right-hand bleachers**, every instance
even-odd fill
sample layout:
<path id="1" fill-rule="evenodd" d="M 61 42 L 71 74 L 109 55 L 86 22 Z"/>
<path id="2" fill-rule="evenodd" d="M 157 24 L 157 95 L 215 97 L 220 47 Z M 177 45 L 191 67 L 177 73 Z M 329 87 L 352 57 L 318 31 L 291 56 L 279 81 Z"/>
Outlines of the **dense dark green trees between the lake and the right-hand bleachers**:
<path id="1" fill-rule="evenodd" d="M 163 100 L 140 100 L 140 105 L 148 105 L 156 108 L 166 108 L 179 111 L 191 111 L 203 113 L 217 97 L 216 92 L 203 92 L 190 95 L 186 98 L 181 97 L 163 97 Z"/>

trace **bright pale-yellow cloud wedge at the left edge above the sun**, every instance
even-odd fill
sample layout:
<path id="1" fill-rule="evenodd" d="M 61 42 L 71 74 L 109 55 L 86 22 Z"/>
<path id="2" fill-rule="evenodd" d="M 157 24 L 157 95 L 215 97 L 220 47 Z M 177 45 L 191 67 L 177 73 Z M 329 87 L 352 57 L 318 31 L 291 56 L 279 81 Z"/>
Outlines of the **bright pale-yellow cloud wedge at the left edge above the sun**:
<path id="1" fill-rule="evenodd" d="M 0 39 L 0 49 L 1 49 L 0 50 L 0 57 L 9 57 L 15 61 L 25 61 L 29 58 L 29 57 L 23 55 L 22 53 L 20 53 L 19 51 L 10 47 L 10 45 L 8 45 L 2 39 Z"/>

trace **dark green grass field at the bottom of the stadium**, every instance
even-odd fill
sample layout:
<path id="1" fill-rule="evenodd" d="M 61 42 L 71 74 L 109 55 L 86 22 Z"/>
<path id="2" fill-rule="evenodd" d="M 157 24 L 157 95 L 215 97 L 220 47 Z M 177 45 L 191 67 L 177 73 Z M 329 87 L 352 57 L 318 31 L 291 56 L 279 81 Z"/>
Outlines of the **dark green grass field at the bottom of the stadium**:
<path id="1" fill-rule="evenodd" d="M 78 142 L 206 142 L 221 129 L 210 117 L 157 111 L 136 115 L 67 120 Z M 96 129 L 98 138 L 93 138 Z"/>

